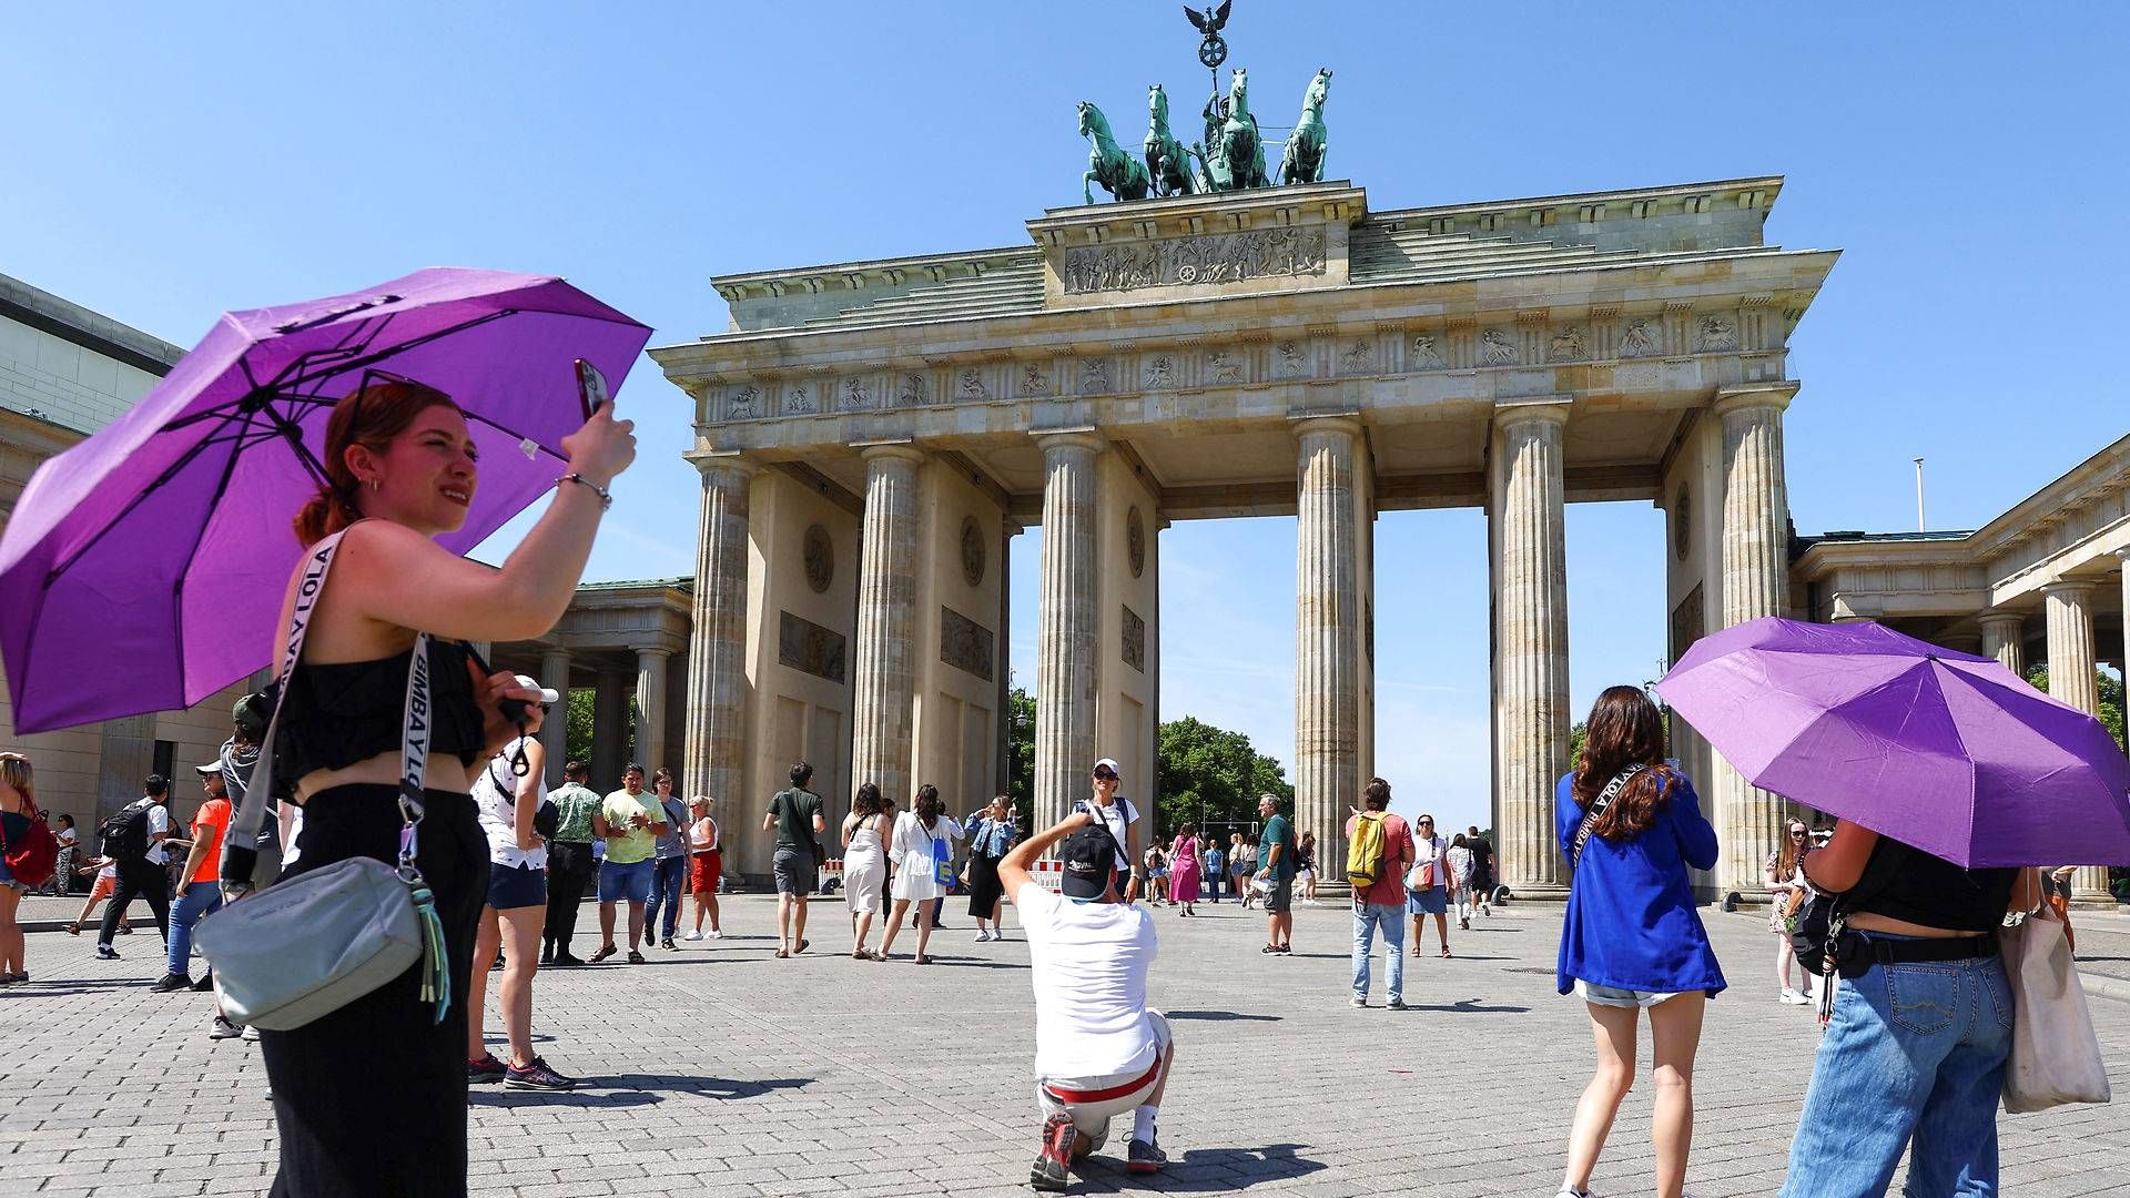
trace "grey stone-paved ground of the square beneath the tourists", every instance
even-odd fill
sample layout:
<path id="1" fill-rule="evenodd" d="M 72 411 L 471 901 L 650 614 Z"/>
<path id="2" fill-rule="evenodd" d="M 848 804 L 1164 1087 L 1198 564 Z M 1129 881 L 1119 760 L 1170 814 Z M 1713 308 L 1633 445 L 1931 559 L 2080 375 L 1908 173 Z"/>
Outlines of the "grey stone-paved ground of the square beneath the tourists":
<path id="1" fill-rule="evenodd" d="M 1029 1194 L 1027 944 L 971 944 L 956 906 L 937 966 L 861 964 L 841 904 L 812 910 L 814 951 L 792 961 L 771 957 L 771 900 L 741 895 L 724 902 L 726 940 L 543 972 L 535 1034 L 586 1087 L 477 1089 L 475 1194 Z M 1408 961 L 1408 1013 L 1382 1010 L 1380 961 L 1378 1006 L 1346 1006 L 1340 906 L 1297 912 L 1291 959 L 1257 953 L 1257 912 L 1201 912 L 1157 910 L 1152 991 L 1178 1036 L 1172 1166 L 1127 1177 L 1118 1134 L 1082 1192 L 1555 1192 L 1589 1070 L 1583 1006 L 1553 993 L 1557 908 L 1453 929 L 1455 959 Z M 1772 1194 L 1819 1032 L 1770 1000 L 1759 919 L 1704 919 L 1732 989 L 1702 1040 L 1689 1192 Z M 2115 936 L 2111 955 L 2130 957 Z M 262 1194 L 275 1155 L 258 1051 L 204 1038 L 204 995 L 143 987 L 160 974 L 153 932 L 117 944 L 124 961 L 96 961 L 87 936 L 32 934 L 36 981 L 0 991 L 0 1194 Z M 2130 1094 L 2130 1004 L 2096 1000 L 2094 1015 Z M 1649 1185 L 1646 1042 L 1642 1062 L 1600 1194 Z M 2126 1194 L 2130 1104 L 2004 1117 L 2002 1157 L 2006 1194 Z"/>

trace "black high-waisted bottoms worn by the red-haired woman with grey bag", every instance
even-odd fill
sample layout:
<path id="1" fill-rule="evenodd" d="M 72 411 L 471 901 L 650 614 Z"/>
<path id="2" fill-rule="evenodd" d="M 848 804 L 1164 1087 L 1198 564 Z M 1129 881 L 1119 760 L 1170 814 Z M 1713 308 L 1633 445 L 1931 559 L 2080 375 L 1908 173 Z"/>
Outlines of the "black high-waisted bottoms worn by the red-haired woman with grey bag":
<path id="1" fill-rule="evenodd" d="M 262 1032 L 281 1132 L 275 1198 L 466 1192 L 466 985 L 488 902 L 488 833 L 469 795 L 428 791 L 415 865 L 452 957 L 443 1021 L 420 1000 L 420 961 L 292 1032 Z M 283 876 L 347 857 L 398 861 L 398 787 L 347 784 L 302 806 L 302 855 Z"/>

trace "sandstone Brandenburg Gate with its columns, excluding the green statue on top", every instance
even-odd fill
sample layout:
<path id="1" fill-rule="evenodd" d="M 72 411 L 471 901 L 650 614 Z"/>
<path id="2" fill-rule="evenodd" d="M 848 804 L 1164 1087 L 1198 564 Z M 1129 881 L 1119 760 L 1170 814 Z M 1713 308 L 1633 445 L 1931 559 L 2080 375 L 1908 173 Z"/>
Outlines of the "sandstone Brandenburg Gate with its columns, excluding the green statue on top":
<path id="1" fill-rule="evenodd" d="M 1651 618 L 1674 657 L 1802 605 L 1785 352 L 1836 254 L 1766 243 L 1781 188 L 1419 209 L 1244 188 L 1052 209 L 997 249 L 718 277 L 731 328 L 652 352 L 694 401 L 703 475 L 686 787 L 724 799 L 750 874 L 801 757 L 833 819 L 867 780 L 899 804 L 918 782 L 952 810 L 988 797 L 1005 546 L 1042 524 L 1037 827 L 1097 757 L 1150 797 L 1161 618 L 1193 610 L 1161 595 L 1161 531 L 1297 516 L 1299 825 L 1342 861 L 1378 735 L 1429 735 L 1376 723 L 1376 622 L 1431 618 L 1425 593 L 1376 593 L 1376 554 L 1399 552 L 1376 514 L 1482 507 L 1502 876 L 1563 893 L 1563 507 L 1666 512 Z M 1723 840 L 1706 889 L 1757 893 L 1781 799 L 1674 733 Z"/>

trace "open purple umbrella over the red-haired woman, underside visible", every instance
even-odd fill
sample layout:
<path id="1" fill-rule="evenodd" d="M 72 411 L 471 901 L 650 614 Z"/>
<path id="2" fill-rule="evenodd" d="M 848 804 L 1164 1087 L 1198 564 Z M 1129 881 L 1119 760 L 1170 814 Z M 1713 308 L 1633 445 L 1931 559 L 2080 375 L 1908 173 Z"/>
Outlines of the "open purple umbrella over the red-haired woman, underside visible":
<path id="1" fill-rule="evenodd" d="M 226 313 L 126 416 L 45 463 L 0 537 L 15 729 L 187 708 L 268 663 L 324 469 L 326 416 L 368 373 L 466 409 L 481 484 L 466 552 L 562 473 L 573 371 L 620 382 L 650 328 L 562 279 L 428 269 Z"/>

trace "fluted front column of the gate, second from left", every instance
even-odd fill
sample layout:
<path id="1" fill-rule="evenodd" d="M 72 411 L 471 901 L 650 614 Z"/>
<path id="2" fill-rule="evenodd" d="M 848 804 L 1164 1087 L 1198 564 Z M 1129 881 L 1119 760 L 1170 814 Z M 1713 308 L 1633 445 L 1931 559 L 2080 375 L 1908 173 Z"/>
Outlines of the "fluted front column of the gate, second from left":
<path id="1" fill-rule="evenodd" d="M 850 784 L 878 782 L 907 806 L 916 697 L 918 465 L 912 446 L 867 446 L 858 546 L 858 644 L 852 663 Z"/>

